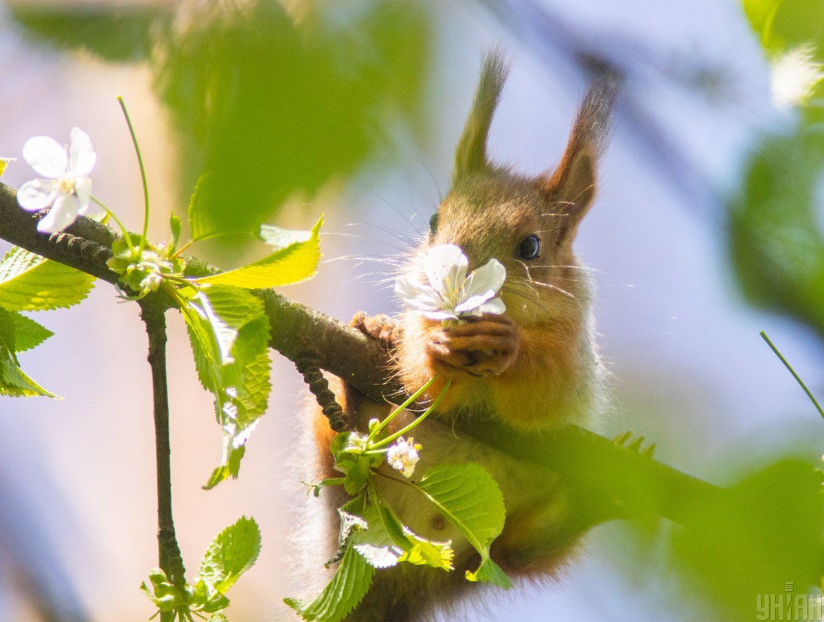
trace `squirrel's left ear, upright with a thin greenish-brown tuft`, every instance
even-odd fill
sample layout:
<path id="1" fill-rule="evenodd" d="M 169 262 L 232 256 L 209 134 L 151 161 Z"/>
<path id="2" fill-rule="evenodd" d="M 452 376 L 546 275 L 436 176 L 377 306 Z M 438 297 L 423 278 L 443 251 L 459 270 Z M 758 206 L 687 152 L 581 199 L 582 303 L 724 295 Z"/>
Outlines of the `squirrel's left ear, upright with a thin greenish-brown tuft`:
<path id="1" fill-rule="evenodd" d="M 503 53 L 499 49 L 490 50 L 480 69 L 478 89 L 475 91 L 475 100 L 472 101 L 472 110 L 469 119 L 466 119 L 461 140 L 458 142 L 455 154 L 455 172 L 452 183 L 471 175 L 471 173 L 486 171 L 489 162 L 486 160 L 486 138 L 489 135 L 489 124 L 492 115 L 498 106 L 503 89 L 503 82 L 507 79 L 509 66 Z"/>

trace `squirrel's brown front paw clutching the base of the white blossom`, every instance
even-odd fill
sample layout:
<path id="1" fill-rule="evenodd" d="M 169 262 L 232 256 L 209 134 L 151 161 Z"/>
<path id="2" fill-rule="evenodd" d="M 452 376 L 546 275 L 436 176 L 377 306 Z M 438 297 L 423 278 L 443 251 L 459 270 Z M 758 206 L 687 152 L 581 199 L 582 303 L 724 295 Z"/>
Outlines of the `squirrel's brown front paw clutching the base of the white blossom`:
<path id="1" fill-rule="evenodd" d="M 505 372 L 517 358 L 520 332 L 507 316 L 471 317 L 466 324 L 433 330 L 426 353 L 438 373 L 483 377 Z"/>

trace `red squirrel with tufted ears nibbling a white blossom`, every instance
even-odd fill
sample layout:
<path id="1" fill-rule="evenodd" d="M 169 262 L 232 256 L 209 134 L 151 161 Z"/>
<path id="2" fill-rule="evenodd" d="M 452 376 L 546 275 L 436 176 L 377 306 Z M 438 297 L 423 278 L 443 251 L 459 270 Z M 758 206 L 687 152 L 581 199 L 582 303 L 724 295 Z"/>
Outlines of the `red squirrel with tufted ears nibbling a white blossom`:
<path id="1" fill-rule="evenodd" d="M 592 283 L 572 243 L 595 199 L 597 162 L 610 131 L 616 82 L 604 78 L 589 89 L 558 166 L 527 177 L 487 157 L 489 125 L 507 74 L 502 54 L 485 56 L 456 150 L 452 189 L 405 266 L 405 272 L 423 280 L 422 258 L 431 247 L 447 243 L 463 250 L 467 272 L 495 258 L 506 269 L 500 293 L 506 311 L 470 316 L 447 327 L 416 311 L 396 317 L 359 312 L 352 325 L 389 349 L 408 393 L 438 376 L 428 390 L 433 399 L 451 380 L 434 419 L 415 428 L 415 441 L 423 446 L 421 472 L 444 462 L 484 465 L 497 480 L 507 509 L 492 558 L 510 576 L 551 578 L 574 556 L 580 536 L 597 519 L 573 507 L 557 473 L 461 436 L 454 423 L 464 417 L 497 418 L 517 431 L 542 433 L 569 423 L 592 424 L 604 407 L 606 372 L 594 341 Z M 382 419 L 391 409 L 343 381 L 335 393 L 361 431 L 369 419 Z M 394 429 L 413 418 L 398 417 Z M 319 410 L 313 432 L 320 456 L 316 475 L 339 476 L 329 447 L 335 433 Z M 347 620 L 425 619 L 456 604 L 461 592 L 477 589 L 466 581 L 464 571 L 475 568 L 478 557 L 460 532 L 433 507 L 424 507 L 407 487 L 387 480 L 382 493 L 414 531 L 433 540 L 452 540 L 455 570 L 382 570 Z M 311 548 L 325 559 L 335 550 L 335 509 L 344 503 L 342 494 L 324 492 L 329 501 L 327 531 L 309 535 L 315 540 Z M 310 529 L 319 527 L 312 524 Z M 317 544 L 318 537 L 325 538 L 323 546 Z M 320 570 L 320 565 L 315 567 L 316 575 Z"/>

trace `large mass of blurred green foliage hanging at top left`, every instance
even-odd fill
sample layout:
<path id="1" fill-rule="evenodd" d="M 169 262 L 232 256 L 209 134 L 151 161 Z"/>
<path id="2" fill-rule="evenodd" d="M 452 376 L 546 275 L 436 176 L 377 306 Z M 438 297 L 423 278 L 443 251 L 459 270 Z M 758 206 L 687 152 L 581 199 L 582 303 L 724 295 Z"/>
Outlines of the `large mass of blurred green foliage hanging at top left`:
<path id="1" fill-rule="evenodd" d="M 144 55 L 180 134 L 181 202 L 208 173 L 208 220 L 256 233 L 291 195 L 311 196 L 383 155 L 398 121 L 414 135 L 425 128 L 424 4 L 291 4 L 287 12 L 275 0 L 190 0 L 138 21 L 119 19 L 115 4 L 94 15 L 43 7 L 13 15 L 64 47 Z"/>

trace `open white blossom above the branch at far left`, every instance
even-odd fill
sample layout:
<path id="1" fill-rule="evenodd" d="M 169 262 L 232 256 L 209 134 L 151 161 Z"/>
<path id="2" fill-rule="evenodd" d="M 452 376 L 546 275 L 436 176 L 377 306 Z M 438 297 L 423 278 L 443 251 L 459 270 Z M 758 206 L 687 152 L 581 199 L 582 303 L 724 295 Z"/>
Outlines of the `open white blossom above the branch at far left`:
<path id="1" fill-rule="evenodd" d="M 54 202 L 37 223 L 38 231 L 63 231 L 77 220 L 78 214 L 87 212 L 91 200 L 88 175 L 97 161 L 87 133 L 72 128 L 68 149 L 48 136 L 29 138 L 23 146 L 23 157 L 45 179 L 23 184 L 17 191 L 17 203 L 35 212 Z"/>

